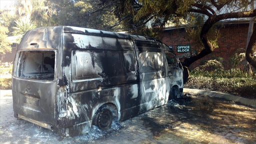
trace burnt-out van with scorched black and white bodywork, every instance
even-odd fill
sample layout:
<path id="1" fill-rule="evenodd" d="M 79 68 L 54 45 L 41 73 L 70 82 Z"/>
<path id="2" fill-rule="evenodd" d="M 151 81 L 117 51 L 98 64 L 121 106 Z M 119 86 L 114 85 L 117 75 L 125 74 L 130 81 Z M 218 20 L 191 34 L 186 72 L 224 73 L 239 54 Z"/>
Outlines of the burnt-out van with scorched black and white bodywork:
<path id="1" fill-rule="evenodd" d="M 71 26 L 27 31 L 12 72 L 14 117 L 63 136 L 101 129 L 182 94 L 179 60 L 144 36 Z"/>

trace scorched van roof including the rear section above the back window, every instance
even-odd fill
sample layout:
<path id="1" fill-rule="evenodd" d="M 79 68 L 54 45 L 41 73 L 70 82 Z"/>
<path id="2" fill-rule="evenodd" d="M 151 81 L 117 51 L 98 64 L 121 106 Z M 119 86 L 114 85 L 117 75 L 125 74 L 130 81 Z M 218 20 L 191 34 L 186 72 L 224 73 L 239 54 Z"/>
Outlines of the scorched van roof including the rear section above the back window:
<path id="1" fill-rule="evenodd" d="M 149 43 L 159 40 L 151 37 L 130 35 L 125 33 L 110 32 L 104 30 L 96 30 L 90 28 L 74 27 L 74 26 L 48 26 L 37 27 L 28 30 L 22 37 L 17 50 L 29 50 L 38 48 L 53 48 L 62 47 L 62 33 L 77 33 L 84 35 L 95 35 L 101 37 L 113 37 L 122 39 L 133 39 L 147 41 Z"/>

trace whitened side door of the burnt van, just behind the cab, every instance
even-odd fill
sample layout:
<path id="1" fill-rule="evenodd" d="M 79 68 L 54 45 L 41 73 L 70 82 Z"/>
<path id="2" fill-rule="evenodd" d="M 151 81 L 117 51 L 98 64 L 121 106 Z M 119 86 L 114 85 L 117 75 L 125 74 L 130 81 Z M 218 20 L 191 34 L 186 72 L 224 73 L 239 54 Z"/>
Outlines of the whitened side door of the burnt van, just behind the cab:
<path id="1" fill-rule="evenodd" d="M 134 40 L 139 65 L 140 112 L 154 108 L 166 95 L 165 69 L 160 44 Z"/>

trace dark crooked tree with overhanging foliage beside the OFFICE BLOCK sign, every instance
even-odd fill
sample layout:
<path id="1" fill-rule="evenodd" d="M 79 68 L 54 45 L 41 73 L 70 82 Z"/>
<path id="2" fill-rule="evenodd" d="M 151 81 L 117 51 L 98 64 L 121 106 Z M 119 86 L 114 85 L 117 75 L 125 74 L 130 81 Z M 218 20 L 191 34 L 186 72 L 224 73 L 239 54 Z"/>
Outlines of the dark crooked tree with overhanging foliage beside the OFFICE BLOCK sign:
<path id="1" fill-rule="evenodd" d="M 256 9 L 246 10 L 250 0 L 101 0 L 101 2 L 102 7 L 115 6 L 114 13 L 119 18 L 119 23 L 128 23 L 132 28 L 139 27 L 151 19 L 160 19 L 160 26 L 164 26 L 168 21 L 178 23 L 181 18 L 193 21 L 191 19 L 196 18 L 195 14 L 202 15 L 203 25 L 199 36 L 204 48 L 198 54 L 184 59 L 182 65 L 184 73 L 187 74 L 184 78 L 188 77 L 187 67 L 191 63 L 214 50 L 208 32 L 216 22 L 256 15 Z M 250 46 L 249 44 L 248 50 L 251 49 Z M 253 50 L 255 49 L 252 48 L 250 52 L 253 53 Z M 246 53 L 249 55 L 247 51 Z M 252 58 L 251 54 L 250 57 Z"/>

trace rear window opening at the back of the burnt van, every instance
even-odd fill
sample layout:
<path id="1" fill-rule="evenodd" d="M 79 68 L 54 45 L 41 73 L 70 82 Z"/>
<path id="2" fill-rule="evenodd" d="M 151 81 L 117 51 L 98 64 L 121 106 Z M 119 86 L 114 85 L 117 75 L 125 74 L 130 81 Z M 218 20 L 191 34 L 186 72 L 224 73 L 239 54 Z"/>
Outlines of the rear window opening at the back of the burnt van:
<path id="1" fill-rule="evenodd" d="M 53 80 L 55 67 L 54 51 L 21 51 L 18 58 L 18 77 Z"/>

